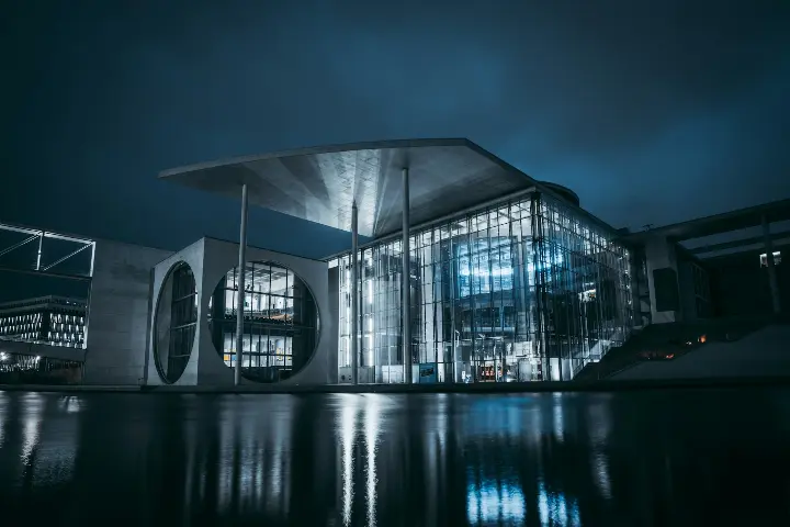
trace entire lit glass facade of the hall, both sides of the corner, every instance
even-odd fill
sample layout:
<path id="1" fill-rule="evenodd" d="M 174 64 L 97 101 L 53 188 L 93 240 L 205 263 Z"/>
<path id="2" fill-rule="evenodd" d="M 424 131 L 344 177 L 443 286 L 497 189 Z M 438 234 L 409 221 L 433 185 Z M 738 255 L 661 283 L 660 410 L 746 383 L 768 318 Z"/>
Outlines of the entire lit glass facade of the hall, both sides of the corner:
<path id="1" fill-rule="evenodd" d="M 539 193 L 414 233 L 414 382 L 568 380 L 622 344 L 633 325 L 631 280 L 614 237 Z M 396 237 L 360 250 L 360 382 L 404 381 L 400 245 Z M 350 261 L 330 262 L 339 267 L 341 371 L 351 366 Z"/>

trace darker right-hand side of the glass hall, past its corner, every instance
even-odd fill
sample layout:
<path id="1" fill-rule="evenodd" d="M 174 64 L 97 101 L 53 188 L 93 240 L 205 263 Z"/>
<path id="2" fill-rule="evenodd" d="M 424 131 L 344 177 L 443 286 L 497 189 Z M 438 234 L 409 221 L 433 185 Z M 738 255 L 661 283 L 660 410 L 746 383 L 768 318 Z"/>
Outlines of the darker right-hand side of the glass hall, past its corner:
<path id="1" fill-rule="evenodd" d="M 568 380 L 633 327 L 629 251 L 614 233 L 543 195 L 535 212 L 535 301 L 553 380 Z"/>

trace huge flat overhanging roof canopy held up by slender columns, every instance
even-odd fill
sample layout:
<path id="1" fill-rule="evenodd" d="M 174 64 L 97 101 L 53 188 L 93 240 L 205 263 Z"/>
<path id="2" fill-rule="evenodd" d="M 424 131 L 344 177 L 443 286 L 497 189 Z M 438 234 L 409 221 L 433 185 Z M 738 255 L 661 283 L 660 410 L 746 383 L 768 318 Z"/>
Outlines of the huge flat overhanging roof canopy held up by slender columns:
<path id="1" fill-rule="evenodd" d="M 330 227 L 380 237 L 400 229 L 404 167 L 410 223 L 418 225 L 535 186 L 526 173 L 463 139 L 409 139 L 324 146 L 165 170 L 160 178 Z M 538 183 L 540 187 L 540 183 Z"/>

